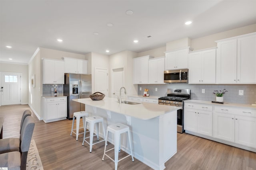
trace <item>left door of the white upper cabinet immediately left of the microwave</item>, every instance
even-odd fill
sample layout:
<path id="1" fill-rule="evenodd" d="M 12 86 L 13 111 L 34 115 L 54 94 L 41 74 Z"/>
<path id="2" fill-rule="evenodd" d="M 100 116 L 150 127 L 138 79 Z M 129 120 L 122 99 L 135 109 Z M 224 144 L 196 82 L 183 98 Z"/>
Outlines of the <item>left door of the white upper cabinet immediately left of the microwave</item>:
<path id="1" fill-rule="evenodd" d="M 162 72 L 164 75 L 164 72 Z M 148 83 L 156 84 L 158 80 L 158 61 L 149 60 L 148 61 Z M 164 82 L 164 81 L 163 81 Z"/>

